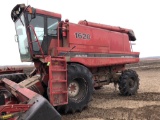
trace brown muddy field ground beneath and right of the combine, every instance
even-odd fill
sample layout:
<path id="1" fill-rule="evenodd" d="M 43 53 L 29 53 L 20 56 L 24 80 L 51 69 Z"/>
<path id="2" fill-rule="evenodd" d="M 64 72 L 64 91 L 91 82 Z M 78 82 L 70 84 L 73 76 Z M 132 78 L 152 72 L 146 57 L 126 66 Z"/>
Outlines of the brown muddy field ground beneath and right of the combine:
<path id="1" fill-rule="evenodd" d="M 127 66 L 139 74 L 138 94 L 124 97 L 113 84 L 96 90 L 82 112 L 62 115 L 62 120 L 160 120 L 160 60 Z"/>

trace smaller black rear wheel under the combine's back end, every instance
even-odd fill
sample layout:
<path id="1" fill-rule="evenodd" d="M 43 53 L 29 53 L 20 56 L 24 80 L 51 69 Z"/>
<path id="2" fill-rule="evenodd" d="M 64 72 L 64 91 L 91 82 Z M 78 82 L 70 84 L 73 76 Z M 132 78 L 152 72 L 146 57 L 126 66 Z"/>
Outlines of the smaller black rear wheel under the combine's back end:
<path id="1" fill-rule="evenodd" d="M 139 78 L 137 73 L 131 69 L 123 71 L 118 84 L 122 95 L 135 95 L 139 89 Z"/>

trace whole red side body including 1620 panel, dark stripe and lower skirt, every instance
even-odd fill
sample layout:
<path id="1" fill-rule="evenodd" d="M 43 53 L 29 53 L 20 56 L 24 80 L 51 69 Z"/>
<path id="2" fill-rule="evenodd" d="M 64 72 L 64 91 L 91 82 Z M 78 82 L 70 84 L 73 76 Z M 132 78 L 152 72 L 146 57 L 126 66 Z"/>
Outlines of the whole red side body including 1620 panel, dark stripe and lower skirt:
<path id="1" fill-rule="evenodd" d="M 131 51 L 129 37 L 125 32 L 73 23 L 69 23 L 68 30 L 68 47 L 59 47 L 58 54 L 70 56 L 70 62 L 98 67 L 139 61 L 139 52 Z M 89 39 L 77 38 L 76 33 L 87 34 L 90 37 Z M 74 46 L 75 48 L 70 51 Z M 68 51 L 70 52 L 66 53 Z"/>

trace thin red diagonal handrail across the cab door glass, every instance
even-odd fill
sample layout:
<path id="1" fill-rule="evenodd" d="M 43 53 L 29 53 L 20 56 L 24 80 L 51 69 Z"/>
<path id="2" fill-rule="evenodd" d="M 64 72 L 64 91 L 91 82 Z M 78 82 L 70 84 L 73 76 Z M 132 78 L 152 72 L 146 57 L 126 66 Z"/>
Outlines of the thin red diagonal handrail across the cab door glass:
<path id="1" fill-rule="evenodd" d="M 44 52 L 43 52 L 42 47 L 41 47 L 41 45 L 40 45 L 40 43 L 39 43 L 39 40 L 38 40 L 38 37 L 37 37 L 36 32 L 35 32 L 35 30 L 34 30 L 34 27 L 33 27 L 32 25 L 29 25 L 28 28 L 31 28 L 31 29 L 32 29 L 32 31 L 33 31 L 33 33 L 34 33 L 34 36 L 36 37 L 36 40 L 34 40 L 34 41 L 31 41 L 31 40 L 30 40 L 30 44 L 31 44 L 32 47 L 33 47 L 33 44 L 32 44 L 32 43 L 33 43 L 33 42 L 37 42 L 37 43 L 38 43 L 38 47 L 39 47 L 39 49 L 40 49 L 40 51 L 41 51 L 41 54 L 42 54 L 42 56 L 43 56 L 43 58 L 44 58 Z"/>

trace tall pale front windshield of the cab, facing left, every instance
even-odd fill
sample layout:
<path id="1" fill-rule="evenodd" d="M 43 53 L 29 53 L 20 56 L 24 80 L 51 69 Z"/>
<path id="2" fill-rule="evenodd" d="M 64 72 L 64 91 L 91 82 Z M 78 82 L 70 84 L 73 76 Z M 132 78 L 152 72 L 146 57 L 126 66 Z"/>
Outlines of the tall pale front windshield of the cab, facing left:
<path id="1" fill-rule="evenodd" d="M 17 33 L 16 36 L 18 40 L 21 61 L 30 61 L 29 46 L 23 14 L 21 15 L 20 19 L 15 22 L 15 28 Z"/>

